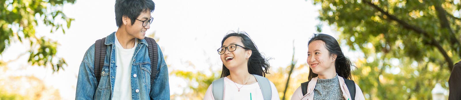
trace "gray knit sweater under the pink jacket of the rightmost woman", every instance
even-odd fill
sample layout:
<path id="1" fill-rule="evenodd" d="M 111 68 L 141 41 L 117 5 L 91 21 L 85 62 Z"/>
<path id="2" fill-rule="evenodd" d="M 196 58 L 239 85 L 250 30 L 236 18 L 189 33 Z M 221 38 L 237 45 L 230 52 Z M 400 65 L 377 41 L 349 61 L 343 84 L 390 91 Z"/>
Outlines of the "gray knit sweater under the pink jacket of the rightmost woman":
<path id="1" fill-rule="evenodd" d="M 339 87 L 338 75 L 332 79 L 318 79 L 314 88 L 314 100 L 345 100 Z"/>

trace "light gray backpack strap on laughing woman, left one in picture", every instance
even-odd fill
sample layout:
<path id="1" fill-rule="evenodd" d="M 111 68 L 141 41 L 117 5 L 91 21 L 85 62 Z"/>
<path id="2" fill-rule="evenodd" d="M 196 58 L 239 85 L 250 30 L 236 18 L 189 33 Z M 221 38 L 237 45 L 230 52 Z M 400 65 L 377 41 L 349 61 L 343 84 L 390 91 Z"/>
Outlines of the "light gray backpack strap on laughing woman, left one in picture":
<path id="1" fill-rule="evenodd" d="M 211 92 L 213 93 L 214 100 L 224 99 L 224 78 L 213 81 Z"/>

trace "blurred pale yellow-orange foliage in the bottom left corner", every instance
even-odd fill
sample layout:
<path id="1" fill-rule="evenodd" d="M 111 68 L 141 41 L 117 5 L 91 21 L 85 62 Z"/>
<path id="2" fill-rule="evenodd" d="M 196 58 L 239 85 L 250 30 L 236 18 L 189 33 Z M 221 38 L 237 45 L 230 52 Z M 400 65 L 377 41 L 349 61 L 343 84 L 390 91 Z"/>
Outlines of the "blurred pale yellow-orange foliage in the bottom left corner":
<path id="1" fill-rule="evenodd" d="M 0 100 L 61 100 L 59 90 L 33 75 L 17 74 L 30 67 L 0 67 Z"/>

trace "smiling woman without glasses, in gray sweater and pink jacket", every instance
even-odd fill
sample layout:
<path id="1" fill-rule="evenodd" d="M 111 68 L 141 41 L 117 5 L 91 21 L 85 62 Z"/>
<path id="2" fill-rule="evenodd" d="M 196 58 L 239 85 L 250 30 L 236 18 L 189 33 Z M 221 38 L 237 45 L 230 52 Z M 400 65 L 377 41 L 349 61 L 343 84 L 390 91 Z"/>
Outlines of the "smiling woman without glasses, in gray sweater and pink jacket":
<path id="1" fill-rule="evenodd" d="M 335 38 L 314 34 L 307 43 L 310 81 L 302 83 L 291 100 L 365 100 L 351 79 L 351 62 Z"/>

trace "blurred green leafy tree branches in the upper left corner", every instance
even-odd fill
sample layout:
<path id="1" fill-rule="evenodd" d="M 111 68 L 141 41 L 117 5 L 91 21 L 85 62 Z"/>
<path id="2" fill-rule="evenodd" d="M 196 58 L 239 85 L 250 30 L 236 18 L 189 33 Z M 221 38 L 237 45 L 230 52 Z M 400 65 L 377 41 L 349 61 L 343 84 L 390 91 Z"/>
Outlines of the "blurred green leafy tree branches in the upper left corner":
<path id="1" fill-rule="evenodd" d="M 30 43 L 28 62 L 32 65 L 51 65 L 54 71 L 63 69 L 65 60 L 56 58 L 57 41 L 36 35 L 37 21 L 51 26 L 51 33 L 71 26 L 73 18 L 65 16 L 62 6 L 66 3 L 73 4 L 75 0 L 0 0 L 0 54 L 11 45 L 13 41 Z M 64 27 L 64 26 L 65 27 Z M 4 59 L 4 58 L 3 58 Z M 1 61 L 0 64 L 7 63 Z"/>

